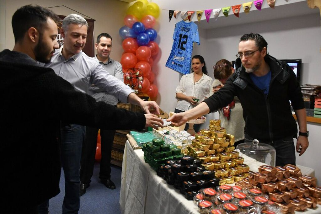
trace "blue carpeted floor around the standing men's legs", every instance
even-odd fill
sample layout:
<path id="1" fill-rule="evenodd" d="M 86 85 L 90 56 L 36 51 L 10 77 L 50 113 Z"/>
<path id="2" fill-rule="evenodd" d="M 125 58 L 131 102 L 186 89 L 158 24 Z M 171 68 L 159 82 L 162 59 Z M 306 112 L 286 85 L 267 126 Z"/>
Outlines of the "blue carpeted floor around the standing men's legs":
<path id="1" fill-rule="evenodd" d="M 90 187 L 80 197 L 79 214 L 120 214 L 119 193 L 121 182 L 121 168 L 112 165 L 111 180 L 115 183 L 116 189 L 110 190 L 100 183 L 99 163 L 95 163 L 94 174 L 91 178 Z M 64 171 L 61 170 L 60 193 L 49 200 L 50 214 L 62 213 L 62 202 L 65 195 Z"/>

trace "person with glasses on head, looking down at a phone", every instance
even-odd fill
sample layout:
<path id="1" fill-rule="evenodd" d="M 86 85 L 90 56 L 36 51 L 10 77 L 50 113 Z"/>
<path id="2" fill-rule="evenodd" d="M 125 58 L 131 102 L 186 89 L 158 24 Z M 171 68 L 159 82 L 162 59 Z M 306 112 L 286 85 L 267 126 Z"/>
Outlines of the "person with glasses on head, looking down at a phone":
<path id="1" fill-rule="evenodd" d="M 219 60 L 214 66 L 214 78 L 210 96 L 213 93 L 220 90 L 224 86 L 225 82 L 234 73 L 232 64 L 226 60 Z M 236 147 L 240 143 L 244 142 L 244 126 L 245 121 L 242 115 L 243 109 L 238 97 L 234 97 L 234 100 L 219 110 L 221 127 L 226 128 L 228 134 L 233 134 L 235 137 L 234 146 Z"/>

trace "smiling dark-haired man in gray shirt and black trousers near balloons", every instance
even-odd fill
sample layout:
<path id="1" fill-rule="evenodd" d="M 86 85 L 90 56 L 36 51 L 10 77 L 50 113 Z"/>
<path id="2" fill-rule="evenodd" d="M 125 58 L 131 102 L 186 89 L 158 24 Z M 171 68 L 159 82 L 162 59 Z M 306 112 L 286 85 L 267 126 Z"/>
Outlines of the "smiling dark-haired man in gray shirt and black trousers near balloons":
<path id="1" fill-rule="evenodd" d="M 99 61 L 110 75 L 124 81 L 122 65 L 109 57 L 112 48 L 111 36 L 108 33 L 101 33 L 98 35 L 95 48 L 97 50 L 97 55 L 94 58 Z M 113 106 L 116 106 L 118 103 L 116 96 L 101 90 L 95 85 L 92 85 L 89 88 L 89 95 L 95 98 L 96 101 L 104 101 Z M 82 157 L 80 163 L 80 196 L 86 193 L 86 189 L 91 182 L 90 179 L 94 171 L 98 130 L 98 128 L 86 126 L 86 140 L 82 144 Z M 101 161 L 99 178 L 101 183 L 109 189 L 116 188 L 114 182 L 110 179 L 110 159 L 115 131 L 116 130 L 100 129 Z"/>

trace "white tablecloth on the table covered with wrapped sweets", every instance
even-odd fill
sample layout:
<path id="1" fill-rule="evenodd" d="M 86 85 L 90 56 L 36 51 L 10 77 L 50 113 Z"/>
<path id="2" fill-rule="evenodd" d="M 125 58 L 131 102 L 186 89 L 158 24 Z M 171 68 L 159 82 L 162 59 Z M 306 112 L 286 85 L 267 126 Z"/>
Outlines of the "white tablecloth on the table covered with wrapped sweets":
<path id="1" fill-rule="evenodd" d="M 257 171 L 257 167 L 262 165 L 247 158 L 244 163 L 252 171 Z M 143 151 L 132 149 L 128 141 L 124 150 L 119 204 L 122 214 L 199 214 L 193 201 L 185 199 L 177 189 L 159 177 L 145 163 Z M 317 205 L 317 209 L 308 209 L 304 213 L 320 214 L 321 206 Z"/>

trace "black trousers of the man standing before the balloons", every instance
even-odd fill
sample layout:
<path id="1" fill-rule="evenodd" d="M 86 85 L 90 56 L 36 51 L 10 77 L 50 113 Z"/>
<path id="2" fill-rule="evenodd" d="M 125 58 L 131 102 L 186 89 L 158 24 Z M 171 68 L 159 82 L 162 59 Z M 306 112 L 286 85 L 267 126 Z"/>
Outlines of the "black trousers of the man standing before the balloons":
<path id="1" fill-rule="evenodd" d="M 110 179 L 110 159 L 111 150 L 116 130 L 100 130 L 101 142 L 101 161 L 99 178 L 102 180 Z M 94 171 L 96 143 L 98 128 L 86 127 L 86 140 L 82 144 L 82 157 L 80 163 L 80 181 L 83 184 L 91 182 L 91 176 Z"/>

